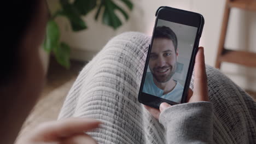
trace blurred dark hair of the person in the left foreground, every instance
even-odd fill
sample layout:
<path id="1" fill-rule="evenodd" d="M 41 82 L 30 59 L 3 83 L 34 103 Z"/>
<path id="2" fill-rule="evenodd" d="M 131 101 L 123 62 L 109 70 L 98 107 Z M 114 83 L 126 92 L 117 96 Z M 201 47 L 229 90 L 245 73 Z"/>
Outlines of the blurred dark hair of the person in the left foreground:
<path id="1" fill-rule="evenodd" d="M 4 84 L 19 73 L 21 39 L 36 15 L 40 0 L 16 0 L 2 2 L 2 48 L 0 84 Z M 5 8 L 3 8 L 5 7 Z"/>

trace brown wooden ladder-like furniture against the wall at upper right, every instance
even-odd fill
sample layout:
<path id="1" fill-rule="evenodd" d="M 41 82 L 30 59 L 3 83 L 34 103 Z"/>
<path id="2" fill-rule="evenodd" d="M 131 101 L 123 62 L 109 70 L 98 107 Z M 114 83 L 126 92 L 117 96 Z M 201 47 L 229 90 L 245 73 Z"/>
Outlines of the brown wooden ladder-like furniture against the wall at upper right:
<path id="1" fill-rule="evenodd" d="M 231 8 L 256 11 L 256 0 L 226 0 L 215 67 L 219 69 L 222 62 L 236 63 L 247 67 L 256 67 L 256 53 L 228 50 L 224 47 Z"/>

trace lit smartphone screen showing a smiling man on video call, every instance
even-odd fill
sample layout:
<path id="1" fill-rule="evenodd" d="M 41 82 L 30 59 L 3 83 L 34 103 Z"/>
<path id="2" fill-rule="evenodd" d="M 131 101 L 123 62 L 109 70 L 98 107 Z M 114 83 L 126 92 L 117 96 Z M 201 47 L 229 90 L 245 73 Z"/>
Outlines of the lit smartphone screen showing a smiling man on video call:
<path id="1" fill-rule="evenodd" d="M 143 93 L 181 103 L 196 34 L 197 27 L 156 21 Z"/>

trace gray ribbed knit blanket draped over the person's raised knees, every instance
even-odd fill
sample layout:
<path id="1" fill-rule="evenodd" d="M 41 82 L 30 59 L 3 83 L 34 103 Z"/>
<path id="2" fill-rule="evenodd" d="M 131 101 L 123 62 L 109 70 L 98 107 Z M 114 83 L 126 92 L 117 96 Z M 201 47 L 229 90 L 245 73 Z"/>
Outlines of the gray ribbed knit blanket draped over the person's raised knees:
<path id="1" fill-rule="evenodd" d="M 99 119 L 88 133 L 98 143 L 256 143 L 255 101 L 209 66 L 211 103 L 174 105 L 160 121 L 152 117 L 137 100 L 149 43 L 136 32 L 111 39 L 80 71 L 59 118 Z"/>

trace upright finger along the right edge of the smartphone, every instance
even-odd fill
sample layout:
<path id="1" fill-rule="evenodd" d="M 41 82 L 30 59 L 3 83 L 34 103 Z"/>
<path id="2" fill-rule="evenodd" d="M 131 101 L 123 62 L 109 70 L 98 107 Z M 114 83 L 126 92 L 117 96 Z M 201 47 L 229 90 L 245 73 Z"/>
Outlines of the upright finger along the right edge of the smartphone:
<path id="1" fill-rule="evenodd" d="M 205 70 L 205 55 L 203 47 L 199 47 L 195 59 L 195 77 L 194 77 L 194 94 L 199 95 L 199 99 L 208 98 L 207 76 Z"/>

